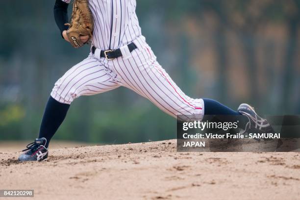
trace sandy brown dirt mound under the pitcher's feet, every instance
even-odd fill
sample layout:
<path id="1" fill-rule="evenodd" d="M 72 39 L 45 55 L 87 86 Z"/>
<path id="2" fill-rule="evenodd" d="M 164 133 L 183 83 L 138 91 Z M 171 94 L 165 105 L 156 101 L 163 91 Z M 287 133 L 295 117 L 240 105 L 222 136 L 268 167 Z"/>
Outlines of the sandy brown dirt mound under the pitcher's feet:
<path id="1" fill-rule="evenodd" d="M 35 199 L 273 199 L 300 196 L 300 152 L 176 152 L 176 141 L 0 153 L 0 189 Z"/>

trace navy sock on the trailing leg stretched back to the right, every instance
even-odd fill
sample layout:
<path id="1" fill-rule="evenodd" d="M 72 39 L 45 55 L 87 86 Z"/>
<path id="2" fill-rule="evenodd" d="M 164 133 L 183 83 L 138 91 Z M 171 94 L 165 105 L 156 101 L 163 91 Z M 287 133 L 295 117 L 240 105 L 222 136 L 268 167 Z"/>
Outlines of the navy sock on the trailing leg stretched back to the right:
<path id="1" fill-rule="evenodd" d="M 203 120 L 207 120 L 205 115 L 217 115 L 218 120 L 223 122 L 239 122 L 239 128 L 245 128 L 246 124 L 249 122 L 248 117 L 242 115 L 238 111 L 232 110 L 222 103 L 211 100 L 211 99 L 203 99 L 204 101 L 204 118 Z"/>

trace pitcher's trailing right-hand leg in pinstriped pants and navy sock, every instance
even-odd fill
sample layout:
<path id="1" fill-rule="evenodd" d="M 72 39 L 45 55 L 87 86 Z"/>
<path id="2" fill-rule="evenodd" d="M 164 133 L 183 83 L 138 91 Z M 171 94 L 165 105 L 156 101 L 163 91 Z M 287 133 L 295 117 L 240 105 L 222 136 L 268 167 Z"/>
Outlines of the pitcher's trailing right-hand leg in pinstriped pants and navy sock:
<path id="1" fill-rule="evenodd" d="M 143 46 L 143 45 L 141 45 Z M 156 61 L 156 57 L 147 45 L 142 50 L 132 52 L 132 58 L 123 61 L 127 72 L 137 79 L 144 97 L 151 100 L 164 112 L 181 120 L 203 120 L 203 115 L 227 115 L 228 122 L 239 120 L 241 125 L 248 119 L 215 100 L 193 99 L 185 95 L 168 73 Z M 136 88 L 131 88 L 136 90 Z M 204 107 L 205 106 L 205 107 Z"/>

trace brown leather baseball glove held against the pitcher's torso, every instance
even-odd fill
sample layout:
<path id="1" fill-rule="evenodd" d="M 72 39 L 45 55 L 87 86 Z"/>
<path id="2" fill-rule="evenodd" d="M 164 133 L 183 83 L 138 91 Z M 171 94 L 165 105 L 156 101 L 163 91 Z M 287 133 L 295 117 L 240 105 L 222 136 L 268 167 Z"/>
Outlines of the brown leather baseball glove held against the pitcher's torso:
<path id="1" fill-rule="evenodd" d="M 94 20 L 88 0 L 74 0 L 70 24 L 65 25 L 69 25 L 67 36 L 74 48 L 82 47 L 85 44 L 81 42 L 80 36 L 88 35 L 90 39 L 92 38 Z"/>

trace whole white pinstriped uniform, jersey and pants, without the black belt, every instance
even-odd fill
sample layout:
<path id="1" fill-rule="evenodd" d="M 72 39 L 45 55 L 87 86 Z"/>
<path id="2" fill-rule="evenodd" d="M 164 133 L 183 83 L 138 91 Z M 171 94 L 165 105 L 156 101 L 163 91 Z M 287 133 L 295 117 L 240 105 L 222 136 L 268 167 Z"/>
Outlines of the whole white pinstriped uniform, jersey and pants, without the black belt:
<path id="1" fill-rule="evenodd" d="M 138 49 L 133 50 L 129 58 L 119 57 L 111 61 L 90 54 L 55 83 L 51 96 L 59 102 L 71 103 L 82 95 L 95 95 L 125 86 L 173 117 L 202 119 L 203 100 L 192 99 L 180 90 L 156 61 L 141 35 L 135 14 L 136 0 L 89 2 L 95 21 L 92 45 L 107 50 L 134 42 Z"/>

